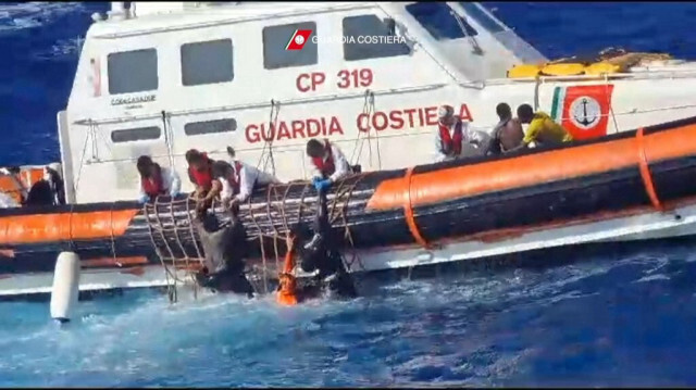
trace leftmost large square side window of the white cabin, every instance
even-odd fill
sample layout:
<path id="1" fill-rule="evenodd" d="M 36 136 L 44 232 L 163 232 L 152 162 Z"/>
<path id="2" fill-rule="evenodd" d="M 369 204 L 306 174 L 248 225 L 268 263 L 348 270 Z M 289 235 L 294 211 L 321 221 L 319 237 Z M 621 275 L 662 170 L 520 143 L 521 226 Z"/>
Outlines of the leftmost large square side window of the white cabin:
<path id="1" fill-rule="evenodd" d="M 133 93 L 158 88 L 157 50 L 111 53 L 108 56 L 109 93 Z"/>

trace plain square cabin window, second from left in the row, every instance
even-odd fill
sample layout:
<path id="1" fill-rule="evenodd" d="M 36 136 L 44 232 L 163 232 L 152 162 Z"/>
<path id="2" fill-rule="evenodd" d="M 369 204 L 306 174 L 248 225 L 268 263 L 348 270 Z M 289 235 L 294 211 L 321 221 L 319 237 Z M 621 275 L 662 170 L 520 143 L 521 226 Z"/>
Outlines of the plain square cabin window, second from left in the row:
<path id="1" fill-rule="evenodd" d="M 199 86 L 232 81 L 232 39 L 182 45 L 182 84 Z"/>

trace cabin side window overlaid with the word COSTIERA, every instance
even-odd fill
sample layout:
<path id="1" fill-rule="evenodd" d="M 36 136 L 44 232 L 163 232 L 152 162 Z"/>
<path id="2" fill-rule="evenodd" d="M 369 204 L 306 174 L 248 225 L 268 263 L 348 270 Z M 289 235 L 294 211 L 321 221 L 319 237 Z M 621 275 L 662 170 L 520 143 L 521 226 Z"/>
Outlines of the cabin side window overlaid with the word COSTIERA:
<path id="1" fill-rule="evenodd" d="M 387 26 L 376 15 L 344 17 L 344 59 L 358 61 L 407 55 L 411 49 L 389 36 Z"/>

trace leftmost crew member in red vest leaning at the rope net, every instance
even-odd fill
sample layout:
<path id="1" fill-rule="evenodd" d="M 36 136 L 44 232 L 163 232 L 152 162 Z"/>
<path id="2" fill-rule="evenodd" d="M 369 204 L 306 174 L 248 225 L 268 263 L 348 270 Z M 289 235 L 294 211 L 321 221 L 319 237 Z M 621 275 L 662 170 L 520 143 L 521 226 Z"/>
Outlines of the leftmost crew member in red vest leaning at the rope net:
<path id="1" fill-rule="evenodd" d="M 148 155 L 141 155 L 136 163 L 140 174 L 140 193 L 138 201 L 146 203 L 154 198 L 169 194 L 172 198 L 178 196 L 182 181 L 174 169 L 162 168 Z"/>

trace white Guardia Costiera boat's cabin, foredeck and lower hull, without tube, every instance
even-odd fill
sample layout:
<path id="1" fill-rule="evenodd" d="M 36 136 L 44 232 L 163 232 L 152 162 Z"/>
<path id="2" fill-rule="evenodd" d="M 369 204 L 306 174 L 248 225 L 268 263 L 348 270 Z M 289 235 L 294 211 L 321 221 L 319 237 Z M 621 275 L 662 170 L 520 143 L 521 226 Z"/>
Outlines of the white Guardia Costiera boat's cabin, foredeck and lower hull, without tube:
<path id="1" fill-rule="evenodd" d="M 576 138 L 696 115 L 696 63 L 639 53 L 589 66 L 550 63 L 473 2 L 135 1 L 129 9 L 112 2 L 94 20 L 58 114 L 69 203 L 135 199 L 139 155 L 182 175 L 190 148 L 214 159 L 232 144 L 282 180 L 308 178 L 312 137 L 339 144 L 363 171 L 428 163 L 437 106 L 446 103 L 487 131 L 496 104 L 530 103 Z M 656 212 L 496 242 L 372 251 L 351 271 L 696 232 L 696 207 L 680 213 L 679 221 Z M 0 294 L 46 292 L 50 282 L 50 275 L 4 278 Z M 163 284 L 156 267 L 85 273 L 80 289 Z"/>

